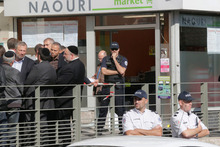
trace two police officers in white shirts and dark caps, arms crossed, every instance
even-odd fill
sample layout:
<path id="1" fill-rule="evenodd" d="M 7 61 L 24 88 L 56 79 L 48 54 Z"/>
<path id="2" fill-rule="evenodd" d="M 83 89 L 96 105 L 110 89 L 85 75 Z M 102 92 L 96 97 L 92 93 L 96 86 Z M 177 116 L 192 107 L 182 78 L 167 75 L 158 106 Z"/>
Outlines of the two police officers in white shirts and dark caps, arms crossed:
<path id="1" fill-rule="evenodd" d="M 192 96 L 183 91 L 178 96 L 180 109 L 171 117 L 172 136 L 196 139 L 209 135 L 208 128 L 191 112 Z M 162 136 L 162 121 L 158 114 L 146 109 L 148 97 L 145 91 L 134 94 L 134 109 L 123 116 L 123 131 L 126 135 Z"/>

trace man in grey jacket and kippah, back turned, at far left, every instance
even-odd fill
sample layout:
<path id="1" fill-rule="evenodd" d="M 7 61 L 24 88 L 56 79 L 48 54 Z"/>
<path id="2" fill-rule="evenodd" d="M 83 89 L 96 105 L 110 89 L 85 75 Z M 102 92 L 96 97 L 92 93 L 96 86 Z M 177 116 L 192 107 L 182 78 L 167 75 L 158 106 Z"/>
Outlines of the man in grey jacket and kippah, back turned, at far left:
<path id="1" fill-rule="evenodd" d="M 7 100 L 8 111 L 5 113 L 5 116 L 1 116 L 1 123 L 10 124 L 10 129 L 7 130 L 7 135 L 9 136 L 10 144 L 16 142 L 16 125 L 19 120 L 19 109 L 21 108 L 21 96 L 23 94 L 23 82 L 21 80 L 21 73 L 11 67 L 15 60 L 15 54 L 12 51 L 8 51 L 3 55 L 3 64 L 2 67 L 5 71 L 6 77 L 6 86 L 5 87 L 5 98 Z M 20 86 L 19 86 L 20 85 Z M 12 99 L 14 98 L 14 99 Z M 12 124 L 13 125 L 12 125 Z"/>

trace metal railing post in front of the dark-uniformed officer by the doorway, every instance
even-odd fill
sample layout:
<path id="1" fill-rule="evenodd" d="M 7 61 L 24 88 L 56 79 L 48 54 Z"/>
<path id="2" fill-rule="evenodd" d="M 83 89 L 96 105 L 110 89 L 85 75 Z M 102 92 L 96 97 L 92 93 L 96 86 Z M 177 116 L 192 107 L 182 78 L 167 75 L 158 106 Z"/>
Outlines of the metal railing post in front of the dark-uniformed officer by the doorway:
<path id="1" fill-rule="evenodd" d="M 111 118 L 110 118 L 110 123 L 111 123 L 111 131 L 112 134 L 115 134 L 115 85 L 111 85 L 110 91 L 113 92 L 111 98 L 110 98 L 110 114 L 111 114 Z M 111 95 L 111 93 L 110 93 Z"/>

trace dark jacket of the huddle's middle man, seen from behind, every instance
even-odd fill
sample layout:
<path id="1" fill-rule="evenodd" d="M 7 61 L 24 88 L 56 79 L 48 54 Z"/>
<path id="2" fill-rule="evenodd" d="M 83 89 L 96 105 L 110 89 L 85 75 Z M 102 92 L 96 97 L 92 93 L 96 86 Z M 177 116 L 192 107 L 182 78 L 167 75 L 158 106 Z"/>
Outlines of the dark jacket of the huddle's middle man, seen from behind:
<path id="1" fill-rule="evenodd" d="M 31 72 L 29 73 L 25 85 L 55 85 L 56 83 L 56 70 L 50 65 L 48 61 L 43 61 L 39 64 L 34 65 Z M 35 97 L 35 87 L 29 87 L 25 90 L 27 97 Z M 53 99 L 45 99 L 45 97 L 54 97 L 53 87 L 41 86 L 40 87 L 41 109 L 54 108 Z M 26 109 L 32 108 L 32 101 L 25 101 L 24 107 Z"/>

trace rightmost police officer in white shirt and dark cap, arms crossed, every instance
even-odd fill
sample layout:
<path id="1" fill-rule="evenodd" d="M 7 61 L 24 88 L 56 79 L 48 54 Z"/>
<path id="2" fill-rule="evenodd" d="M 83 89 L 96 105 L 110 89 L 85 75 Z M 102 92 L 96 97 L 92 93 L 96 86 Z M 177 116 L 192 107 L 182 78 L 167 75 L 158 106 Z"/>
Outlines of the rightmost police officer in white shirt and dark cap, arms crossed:
<path id="1" fill-rule="evenodd" d="M 172 136 L 177 138 L 198 138 L 209 135 L 209 130 L 197 115 L 191 112 L 192 96 L 183 91 L 178 96 L 180 109 L 171 117 Z"/>

